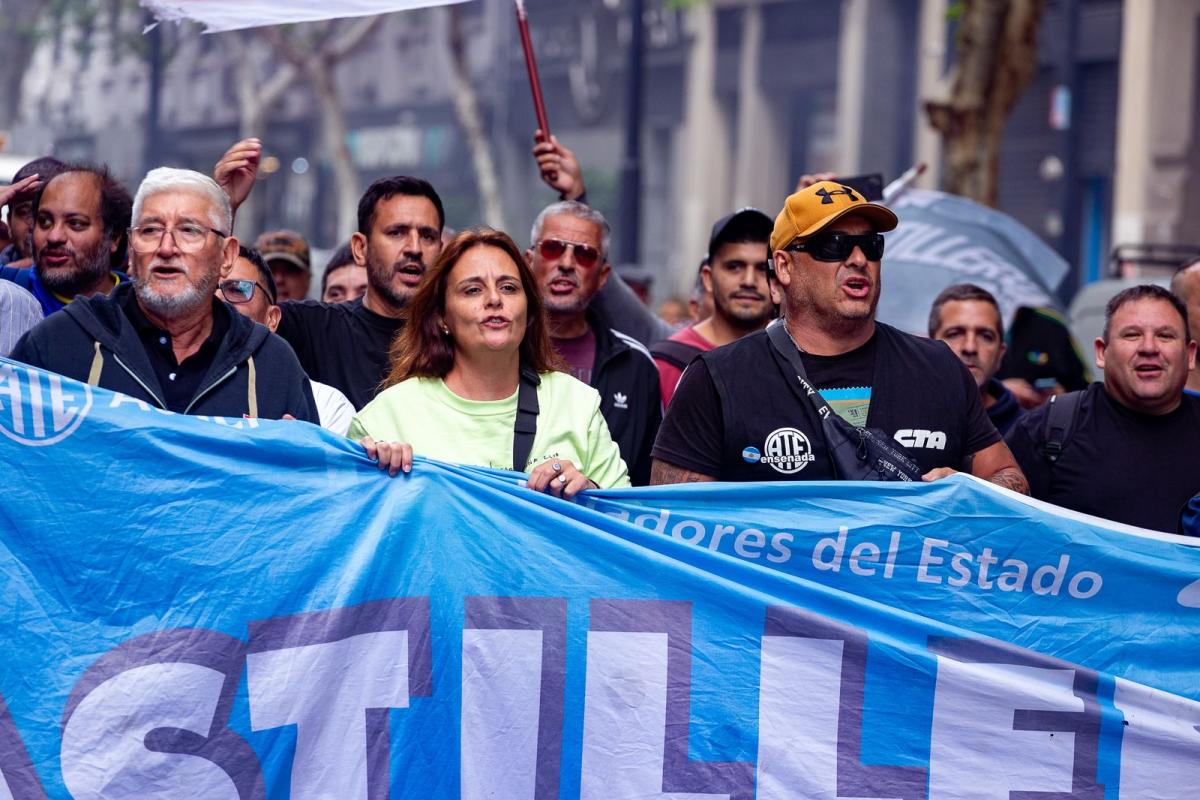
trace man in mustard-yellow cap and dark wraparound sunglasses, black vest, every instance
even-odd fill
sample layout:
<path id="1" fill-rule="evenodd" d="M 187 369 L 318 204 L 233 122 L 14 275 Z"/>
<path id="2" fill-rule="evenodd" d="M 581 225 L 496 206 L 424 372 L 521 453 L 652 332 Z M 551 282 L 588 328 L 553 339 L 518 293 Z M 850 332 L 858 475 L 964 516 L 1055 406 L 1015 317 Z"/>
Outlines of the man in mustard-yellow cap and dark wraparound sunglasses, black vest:
<path id="1" fill-rule="evenodd" d="M 964 470 L 1028 492 L 954 353 L 875 321 L 882 233 L 895 225 L 886 206 L 833 181 L 787 198 L 770 235 L 781 319 L 691 363 L 654 444 L 652 483 Z"/>

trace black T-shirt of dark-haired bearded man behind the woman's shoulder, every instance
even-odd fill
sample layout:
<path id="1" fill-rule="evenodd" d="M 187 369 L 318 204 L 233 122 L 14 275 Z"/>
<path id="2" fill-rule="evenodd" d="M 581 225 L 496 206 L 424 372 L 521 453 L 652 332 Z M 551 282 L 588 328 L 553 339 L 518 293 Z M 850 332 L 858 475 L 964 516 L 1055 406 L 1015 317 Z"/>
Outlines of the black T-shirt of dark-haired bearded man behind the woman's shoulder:
<path id="1" fill-rule="evenodd" d="M 362 305 L 316 300 L 280 303 L 276 333 L 287 339 L 313 380 L 340 390 L 355 409 L 374 398 L 388 374 L 388 350 L 401 321 Z"/>

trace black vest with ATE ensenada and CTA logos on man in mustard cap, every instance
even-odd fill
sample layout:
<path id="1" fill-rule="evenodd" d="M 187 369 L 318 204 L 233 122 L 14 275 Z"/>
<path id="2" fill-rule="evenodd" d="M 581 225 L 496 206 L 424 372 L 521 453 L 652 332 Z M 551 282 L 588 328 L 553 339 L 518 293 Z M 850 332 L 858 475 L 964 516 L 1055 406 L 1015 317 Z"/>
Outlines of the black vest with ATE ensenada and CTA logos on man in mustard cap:
<path id="1" fill-rule="evenodd" d="M 860 386 L 868 359 L 866 425 L 904 445 L 923 470 L 961 469 L 967 456 L 1000 441 L 974 379 L 942 342 L 878 324 L 864 348 L 833 359 L 806 356 L 804 365 L 818 389 L 830 380 Z M 722 481 L 839 477 L 811 401 L 764 331 L 691 362 L 653 455 Z"/>

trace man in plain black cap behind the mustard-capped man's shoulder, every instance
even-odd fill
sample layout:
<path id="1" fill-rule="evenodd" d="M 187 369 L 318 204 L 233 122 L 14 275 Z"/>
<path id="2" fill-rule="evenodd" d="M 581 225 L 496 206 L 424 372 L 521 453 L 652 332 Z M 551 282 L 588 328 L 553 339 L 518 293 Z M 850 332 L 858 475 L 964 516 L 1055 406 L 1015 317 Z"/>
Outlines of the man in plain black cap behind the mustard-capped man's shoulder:
<path id="1" fill-rule="evenodd" d="M 713 313 L 650 348 L 659 367 L 662 404 L 671 402 L 679 375 L 701 353 L 708 353 L 770 321 L 767 288 L 767 243 L 770 217 L 757 209 L 742 209 L 713 225 L 708 257 L 700 267 L 704 293 L 713 297 Z"/>

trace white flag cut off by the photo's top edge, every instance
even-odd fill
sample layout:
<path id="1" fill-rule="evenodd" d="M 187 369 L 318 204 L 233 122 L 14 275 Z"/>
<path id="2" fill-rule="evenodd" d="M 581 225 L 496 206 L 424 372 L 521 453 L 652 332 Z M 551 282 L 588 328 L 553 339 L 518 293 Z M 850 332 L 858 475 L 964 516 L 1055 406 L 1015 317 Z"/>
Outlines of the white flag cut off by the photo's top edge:
<path id="1" fill-rule="evenodd" d="M 152 11 L 161 22 L 191 19 L 203 23 L 206 34 L 342 17 L 370 17 L 454 2 L 463 0 L 142 0 L 143 7 Z"/>

